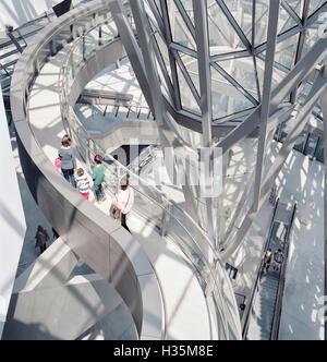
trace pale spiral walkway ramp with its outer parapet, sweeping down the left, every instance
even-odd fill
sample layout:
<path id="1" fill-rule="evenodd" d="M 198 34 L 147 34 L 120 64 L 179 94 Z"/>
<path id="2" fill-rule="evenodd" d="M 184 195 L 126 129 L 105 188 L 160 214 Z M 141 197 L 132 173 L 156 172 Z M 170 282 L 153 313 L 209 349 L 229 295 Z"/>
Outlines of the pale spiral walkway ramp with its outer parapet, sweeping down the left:
<path id="1" fill-rule="evenodd" d="M 213 267 L 206 261 L 205 248 L 209 248 L 205 245 L 206 236 L 192 219 L 182 215 L 189 222 L 185 226 L 181 225 L 181 217 L 174 220 L 170 214 L 180 230 L 162 236 L 150 217 L 145 218 L 136 206 L 129 219 L 131 236 L 108 215 L 110 188 L 106 189 L 106 203 L 88 203 L 53 166 L 60 140 L 71 125 L 66 114 L 72 110 L 63 114 L 63 102 L 73 104 L 93 76 L 124 57 L 119 37 L 112 36 L 98 50 L 90 50 L 72 82 L 64 83 L 66 59 L 75 49 L 74 44 L 98 24 L 113 22 L 110 2 L 81 4 L 53 21 L 35 36 L 12 79 L 12 113 L 26 181 L 60 239 L 17 281 L 15 307 L 7 323 L 4 339 L 13 334 L 22 339 L 38 337 L 39 329 L 32 326 L 39 324 L 48 331 L 47 339 L 81 339 L 120 304 L 131 315 L 130 326 L 135 329 L 134 335 L 129 335 L 131 338 L 241 339 L 229 278 L 219 262 Z M 62 97 L 63 88 L 69 101 Z M 107 140 L 120 140 L 123 144 L 123 126 L 125 123 L 109 130 Z M 131 126 L 140 132 L 142 121 L 134 120 Z M 148 137 L 156 137 L 156 133 Z M 97 138 L 94 134 L 95 143 Z M 147 141 L 156 143 L 157 138 Z M 85 144 L 75 142 L 75 146 L 78 166 L 87 169 Z M 152 190 L 148 194 L 140 190 L 140 197 L 149 204 L 154 194 Z M 154 217 L 161 215 L 162 205 L 152 205 L 157 207 Z M 185 229 L 187 225 L 192 230 Z M 70 279 L 78 258 L 95 274 Z M 50 304 L 52 309 L 48 307 Z M 70 327 L 65 328 L 69 318 Z M 17 330 L 23 322 L 25 328 Z"/>

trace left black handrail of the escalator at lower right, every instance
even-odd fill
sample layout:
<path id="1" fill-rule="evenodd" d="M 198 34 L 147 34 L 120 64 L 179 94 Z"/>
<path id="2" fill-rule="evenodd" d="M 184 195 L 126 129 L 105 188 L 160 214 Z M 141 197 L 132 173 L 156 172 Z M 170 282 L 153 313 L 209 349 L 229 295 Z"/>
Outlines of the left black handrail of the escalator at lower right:
<path id="1" fill-rule="evenodd" d="M 274 213 L 272 213 L 272 217 L 271 217 L 271 222 L 270 222 L 269 231 L 268 231 L 268 234 L 267 234 L 267 238 L 266 238 L 266 242 L 265 242 L 265 244 L 263 246 L 262 255 L 268 249 L 268 244 L 269 244 L 269 241 L 270 241 L 270 238 L 271 238 L 271 232 L 272 232 L 272 227 L 274 227 L 274 220 L 275 220 L 275 216 L 276 216 L 276 213 L 277 213 L 278 204 L 279 204 L 279 197 L 277 198 L 276 204 L 275 204 L 275 208 L 274 208 Z M 249 303 L 247 303 L 249 309 L 247 309 L 246 313 L 244 311 L 244 317 L 242 318 L 244 321 L 244 323 L 243 323 L 243 330 L 242 330 L 242 337 L 243 337 L 243 339 L 246 338 L 247 330 L 249 330 L 249 325 L 250 325 L 250 316 L 251 316 L 253 307 L 254 307 L 253 302 L 254 302 L 255 295 L 259 291 L 259 281 L 261 281 L 263 266 L 264 266 L 264 261 L 263 261 L 263 258 L 261 258 L 261 264 L 259 264 L 259 266 L 257 268 L 257 275 L 256 275 L 255 282 L 254 282 L 254 287 L 252 289 L 251 298 L 250 298 Z"/>

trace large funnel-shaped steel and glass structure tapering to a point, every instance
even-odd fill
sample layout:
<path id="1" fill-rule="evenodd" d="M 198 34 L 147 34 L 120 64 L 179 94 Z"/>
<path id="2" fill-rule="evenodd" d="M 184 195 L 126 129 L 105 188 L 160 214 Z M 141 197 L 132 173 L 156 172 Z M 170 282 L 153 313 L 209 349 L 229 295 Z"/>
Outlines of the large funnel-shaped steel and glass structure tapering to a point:
<path id="1" fill-rule="evenodd" d="M 125 7 L 131 8 L 134 28 Z M 194 152 L 181 136 L 182 125 L 202 134 L 203 147 L 222 149 L 222 195 L 199 201 L 194 188 L 183 191 L 186 210 L 227 257 L 242 242 L 326 88 L 327 40 L 318 38 L 318 29 L 327 2 L 117 0 L 114 8 L 117 27 L 158 122 L 161 146 Z M 305 84 L 312 90 L 300 107 Z M 293 122 L 293 132 L 267 170 L 275 130 L 286 121 Z M 228 188 L 237 183 L 229 167 L 240 149 L 242 172 L 249 177 L 228 201 Z M 213 152 L 209 157 L 214 162 Z"/>

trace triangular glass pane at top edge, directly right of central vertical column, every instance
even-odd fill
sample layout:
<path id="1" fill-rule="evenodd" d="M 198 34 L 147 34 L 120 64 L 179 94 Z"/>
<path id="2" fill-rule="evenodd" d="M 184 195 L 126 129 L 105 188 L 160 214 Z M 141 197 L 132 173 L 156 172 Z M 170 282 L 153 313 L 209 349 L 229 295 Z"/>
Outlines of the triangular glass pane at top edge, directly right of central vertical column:
<path id="1" fill-rule="evenodd" d="M 216 0 L 208 1 L 208 27 L 211 56 L 245 49 Z"/>

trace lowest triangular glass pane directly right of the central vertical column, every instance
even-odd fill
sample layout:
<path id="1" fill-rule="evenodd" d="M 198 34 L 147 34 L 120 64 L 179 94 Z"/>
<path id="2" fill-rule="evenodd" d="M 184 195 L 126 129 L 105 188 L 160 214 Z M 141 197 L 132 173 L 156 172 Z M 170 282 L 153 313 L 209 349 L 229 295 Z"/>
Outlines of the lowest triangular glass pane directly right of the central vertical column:
<path id="1" fill-rule="evenodd" d="M 214 67 L 211 67 L 211 86 L 214 119 L 219 119 L 254 107 L 254 105 L 220 75 Z"/>

